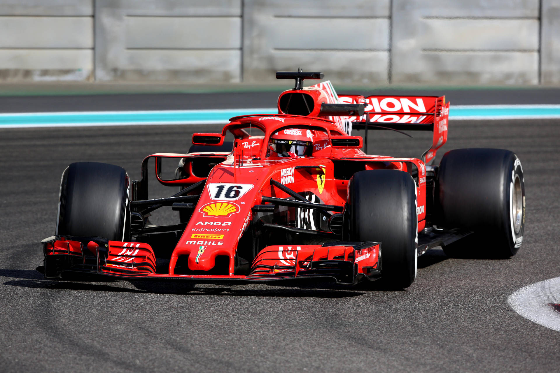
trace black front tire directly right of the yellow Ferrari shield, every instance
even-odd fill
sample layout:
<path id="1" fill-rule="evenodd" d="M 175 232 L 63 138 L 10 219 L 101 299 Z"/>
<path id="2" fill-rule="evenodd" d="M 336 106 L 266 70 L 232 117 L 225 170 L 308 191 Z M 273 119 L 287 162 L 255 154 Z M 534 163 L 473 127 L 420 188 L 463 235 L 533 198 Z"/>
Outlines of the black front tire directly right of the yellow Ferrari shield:
<path id="1" fill-rule="evenodd" d="M 417 270 L 416 183 L 396 170 L 354 173 L 348 185 L 348 238 L 381 242 L 381 283 L 412 284 Z"/>

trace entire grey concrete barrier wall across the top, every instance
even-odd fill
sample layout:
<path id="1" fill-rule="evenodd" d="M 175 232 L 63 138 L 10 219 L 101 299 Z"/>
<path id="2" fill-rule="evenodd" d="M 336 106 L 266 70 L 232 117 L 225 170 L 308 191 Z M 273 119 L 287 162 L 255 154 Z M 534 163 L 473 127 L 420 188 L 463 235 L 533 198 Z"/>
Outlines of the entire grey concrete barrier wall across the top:
<path id="1" fill-rule="evenodd" d="M 559 47 L 560 0 L 0 0 L 0 81 L 558 84 Z"/>

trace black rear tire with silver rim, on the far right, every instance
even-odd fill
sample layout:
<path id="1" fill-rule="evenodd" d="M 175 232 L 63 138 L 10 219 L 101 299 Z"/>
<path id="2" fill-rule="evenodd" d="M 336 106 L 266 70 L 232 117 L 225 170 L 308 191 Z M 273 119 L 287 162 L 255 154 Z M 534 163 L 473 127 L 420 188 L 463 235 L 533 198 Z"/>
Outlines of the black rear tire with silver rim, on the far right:
<path id="1" fill-rule="evenodd" d="M 525 186 L 517 155 L 502 149 L 445 153 L 436 184 L 438 225 L 473 231 L 446 245 L 450 257 L 509 258 L 523 241 Z"/>

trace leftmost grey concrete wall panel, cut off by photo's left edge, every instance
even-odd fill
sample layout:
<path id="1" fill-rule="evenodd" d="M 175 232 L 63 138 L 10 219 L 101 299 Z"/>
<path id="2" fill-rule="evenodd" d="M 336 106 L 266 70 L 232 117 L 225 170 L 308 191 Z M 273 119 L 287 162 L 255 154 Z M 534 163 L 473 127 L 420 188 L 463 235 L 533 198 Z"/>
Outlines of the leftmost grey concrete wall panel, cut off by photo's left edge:
<path id="1" fill-rule="evenodd" d="M 0 81 L 94 79 L 93 0 L 0 0 Z"/>

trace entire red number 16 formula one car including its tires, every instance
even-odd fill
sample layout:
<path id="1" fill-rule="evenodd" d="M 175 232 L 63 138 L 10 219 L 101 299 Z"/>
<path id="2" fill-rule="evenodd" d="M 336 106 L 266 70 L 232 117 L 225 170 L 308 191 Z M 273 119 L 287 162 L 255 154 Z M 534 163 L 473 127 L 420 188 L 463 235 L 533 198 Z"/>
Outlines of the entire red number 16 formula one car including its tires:
<path id="1" fill-rule="evenodd" d="M 38 269 L 48 278 L 198 282 L 381 278 L 402 289 L 432 247 L 454 256 L 517 252 L 520 161 L 507 150 L 457 149 L 432 166 L 447 139 L 445 97 L 338 96 L 329 82 L 302 88 L 322 73 L 277 78 L 296 80 L 279 96 L 278 114 L 237 116 L 221 133 L 196 133 L 188 154 L 149 155 L 141 180 L 110 164 L 68 166 L 56 235 L 43 240 Z M 433 141 L 421 158 L 368 155 L 352 127 L 428 130 Z M 162 172 L 170 158 L 179 162 L 171 177 Z M 180 191 L 150 199 L 150 174 Z M 160 208 L 180 211 L 180 221 L 151 224 Z"/>

